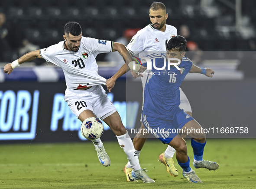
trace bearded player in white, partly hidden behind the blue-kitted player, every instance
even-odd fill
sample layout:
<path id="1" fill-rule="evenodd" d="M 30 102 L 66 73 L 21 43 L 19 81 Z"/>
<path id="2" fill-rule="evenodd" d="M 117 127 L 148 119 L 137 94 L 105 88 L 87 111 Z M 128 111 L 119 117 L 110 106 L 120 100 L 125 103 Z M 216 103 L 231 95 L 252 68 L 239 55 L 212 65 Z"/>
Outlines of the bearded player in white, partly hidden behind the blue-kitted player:
<path id="1" fill-rule="evenodd" d="M 165 20 L 168 18 L 168 14 L 166 13 L 166 8 L 163 3 L 152 3 L 152 5 L 149 8 L 149 17 L 152 24 L 147 25 L 145 28 L 137 32 L 137 34 L 133 36 L 132 40 L 126 47 L 133 55 L 139 54 L 139 56 L 147 56 L 153 53 L 165 54 L 167 41 L 173 36 L 177 35 L 177 29 L 174 26 L 165 24 Z M 192 68 L 195 67 L 196 66 L 192 65 Z M 149 79 L 152 76 L 152 74 L 150 74 L 149 72 L 151 71 L 145 70 L 143 77 L 141 77 L 143 85 L 143 102 L 145 84 L 149 81 Z M 214 71 L 209 68 L 202 68 L 201 73 L 208 77 L 212 77 L 211 74 L 214 73 Z M 136 77 L 134 72 L 132 72 L 132 75 L 133 77 Z M 114 78 L 117 78 L 116 75 L 114 76 Z M 111 88 L 113 88 L 114 82 L 115 80 L 113 78 L 107 81 L 108 89 L 111 90 Z M 181 104 L 179 107 L 181 108 L 181 110 L 184 110 L 186 113 L 188 113 L 188 115 L 192 117 L 192 110 L 189 101 L 184 92 L 181 90 L 181 88 L 179 88 L 179 90 L 181 99 Z M 140 121 L 142 122 L 142 120 Z M 144 128 L 145 127 L 143 123 L 141 123 L 140 129 L 143 130 Z M 142 133 L 138 133 L 133 139 L 133 145 L 138 156 L 148 136 L 149 133 L 145 135 Z M 174 154 L 175 149 L 172 148 L 171 146 L 168 146 L 165 152 L 159 155 L 159 161 L 165 164 L 165 166 L 167 167 L 167 171 L 171 175 L 178 176 L 178 171 L 175 168 L 172 159 Z M 127 181 L 134 181 L 133 179 L 131 179 L 131 171 L 132 167 L 130 165 L 130 162 L 128 162 L 127 165 L 124 167 L 124 172 L 126 173 Z"/>

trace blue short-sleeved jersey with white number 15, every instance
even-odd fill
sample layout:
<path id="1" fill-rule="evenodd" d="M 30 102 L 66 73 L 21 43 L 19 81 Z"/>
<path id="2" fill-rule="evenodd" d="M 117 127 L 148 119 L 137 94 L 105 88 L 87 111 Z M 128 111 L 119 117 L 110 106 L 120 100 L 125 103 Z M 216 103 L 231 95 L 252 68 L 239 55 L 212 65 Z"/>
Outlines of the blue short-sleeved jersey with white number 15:
<path id="1" fill-rule="evenodd" d="M 152 54 L 148 57 L 152 60 L 152 77 L 145 85 L 143 113 L 152 117 L 171 115 L 172 108 L 180 104 L 179 87 L 190 71 L 192 62 L 187 57 L 182 57 L 181 63 L 178 65 L 181 70 L 175 66 L 170 66 L 168 70 L 166 55 Z M 155 67 L 162 68 L 162 70 L 154 68 L 154 60 Z M 146 63 L 143 66 L 146 66 Z"/>

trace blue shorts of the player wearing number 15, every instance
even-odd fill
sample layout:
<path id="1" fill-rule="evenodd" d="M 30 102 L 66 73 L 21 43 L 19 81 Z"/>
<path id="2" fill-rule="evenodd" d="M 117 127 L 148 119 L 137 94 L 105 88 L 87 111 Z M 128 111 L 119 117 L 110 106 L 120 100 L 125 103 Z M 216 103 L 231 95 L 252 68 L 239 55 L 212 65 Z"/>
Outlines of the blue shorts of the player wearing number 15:
<path id="1" fill-rule="evenodd" d="M 152 117 L 146 116 L 146 114 L 142 112 L 144 126 L 149 130 L 149 133 L 155 135 L 156 138 L 161 140 L 164 144 L 169 144 L 179 131 L 182 132 L 180 129 L 191 120 L 194 120 L 194 118 L 190 117 L 178 106 L 175 106 L 168 116 L 156 115 Z M 183 131 L 183 133 L 184 132 L 185 131 Z"/>

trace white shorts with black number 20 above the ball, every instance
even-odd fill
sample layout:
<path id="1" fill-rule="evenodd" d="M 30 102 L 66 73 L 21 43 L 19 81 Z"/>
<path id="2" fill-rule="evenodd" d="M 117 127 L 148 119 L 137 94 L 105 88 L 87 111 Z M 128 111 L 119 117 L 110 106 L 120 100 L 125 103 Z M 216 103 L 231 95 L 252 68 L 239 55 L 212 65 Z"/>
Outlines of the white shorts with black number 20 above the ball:
<path id="1" fill-rule="evenodd" d="M 66 89 L 64 99 L 77 118 L 84 110 L 91 110 L 101 120 L 117 111 L 101 85 L 86 90 Z"/>

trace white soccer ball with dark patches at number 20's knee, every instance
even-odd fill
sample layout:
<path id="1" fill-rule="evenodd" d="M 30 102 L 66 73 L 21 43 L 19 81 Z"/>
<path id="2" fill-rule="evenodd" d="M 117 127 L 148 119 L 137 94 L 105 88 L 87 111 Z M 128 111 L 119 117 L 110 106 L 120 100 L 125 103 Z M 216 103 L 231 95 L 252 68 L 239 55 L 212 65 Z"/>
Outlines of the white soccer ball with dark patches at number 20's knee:
<path id="1" fill-rule="evenodd" d="M 104 126 L 96 117 L 89 117 L 83 121 L 81 132 L 84 138 L 94 140 L 100 138 L 103 134 Z"/>

